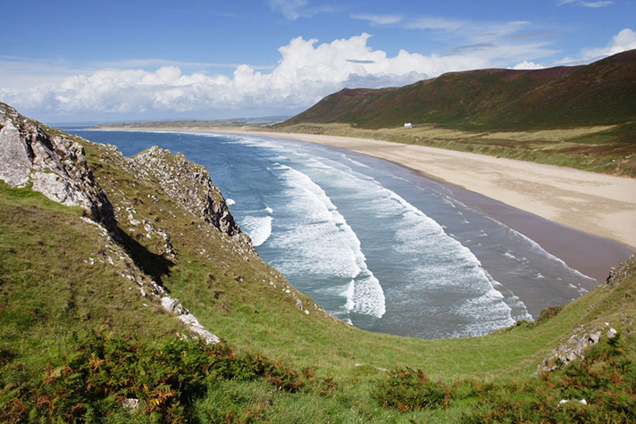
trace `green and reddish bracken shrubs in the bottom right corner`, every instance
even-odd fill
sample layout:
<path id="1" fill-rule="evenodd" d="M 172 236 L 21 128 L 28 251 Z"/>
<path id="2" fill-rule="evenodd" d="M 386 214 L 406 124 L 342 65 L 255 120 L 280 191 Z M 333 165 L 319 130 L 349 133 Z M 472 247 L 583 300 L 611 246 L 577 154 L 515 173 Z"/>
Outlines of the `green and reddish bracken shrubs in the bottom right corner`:
<path id="1" fill-rule="evenodd" d="M 616 336 L 592 346 L 584 360 L 563 370 L 543 373 L 520 387 L 494 387 L 462 421 L 636 422 L 633 345 L 633 335 Z"/>

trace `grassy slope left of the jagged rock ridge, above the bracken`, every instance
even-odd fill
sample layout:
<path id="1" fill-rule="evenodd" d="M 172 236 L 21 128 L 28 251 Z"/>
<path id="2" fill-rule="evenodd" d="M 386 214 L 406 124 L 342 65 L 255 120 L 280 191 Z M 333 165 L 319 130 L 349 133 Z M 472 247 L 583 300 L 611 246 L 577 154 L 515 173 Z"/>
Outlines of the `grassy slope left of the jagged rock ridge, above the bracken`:
<path id="1" fill-rule="evenodd" d="M 181 328 L 146 309 L 111 267 L 88 265 L 105 245 L 79 219 L 83 212 L 0 182 L 0 347 L 26 372 L 41 369 L 48 352 L 80 328 L 137 329 L 151 338 Z"/>

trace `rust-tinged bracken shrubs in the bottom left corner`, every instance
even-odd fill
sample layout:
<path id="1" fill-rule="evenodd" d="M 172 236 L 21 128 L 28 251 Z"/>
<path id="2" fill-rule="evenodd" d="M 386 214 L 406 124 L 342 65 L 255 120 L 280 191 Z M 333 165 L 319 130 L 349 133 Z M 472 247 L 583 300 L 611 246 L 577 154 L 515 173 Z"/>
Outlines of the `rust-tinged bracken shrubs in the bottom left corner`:
<path id="1" fill-rule="evenodd" d="M 199 340 L 148 343 L 91 333 L 74 337 L 67 352 L 62 362 L 46 367 L 35 387 L 0 389 L 0 421 L 100 421 L 134 398 L 138 412 L 151 419 L 181 422 L 216 380 L 263 378 L 289 392 L 304 385 L 296 371 L 263 356 Z"/>

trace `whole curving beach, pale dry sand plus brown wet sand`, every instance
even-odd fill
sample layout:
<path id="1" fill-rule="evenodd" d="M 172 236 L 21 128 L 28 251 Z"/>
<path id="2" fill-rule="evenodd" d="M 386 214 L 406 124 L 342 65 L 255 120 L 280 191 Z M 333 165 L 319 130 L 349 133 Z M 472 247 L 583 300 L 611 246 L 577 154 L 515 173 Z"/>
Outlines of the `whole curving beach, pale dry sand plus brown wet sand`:
<path id="1" fill-rule="evenodd" d="M 211 132 L 283 138 L 394 162 L 445 184 L 458 200 L 603 281 L 636 250 L 636 179 L 420 145 L 241 129 L 106 129 Z"/>

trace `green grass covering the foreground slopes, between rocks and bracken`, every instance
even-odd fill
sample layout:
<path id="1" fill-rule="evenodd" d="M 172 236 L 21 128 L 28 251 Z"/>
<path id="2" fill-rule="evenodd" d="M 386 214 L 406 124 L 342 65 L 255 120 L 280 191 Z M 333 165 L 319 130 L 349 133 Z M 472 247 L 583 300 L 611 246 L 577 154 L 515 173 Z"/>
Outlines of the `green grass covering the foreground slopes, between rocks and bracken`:
<path id="1" fill-rule="evenodd" d="M 267 363 L 280 364 L 281 369 L 303 376 L 303 387 L 296 392 L 280 390 L 267 378 L 205 379 L 197 395 L 180 398 L 179 404 L 185 409 L 179 413 L 190 420 L 444 422 L 496 416 L 506 420 L 509 416 L 501 414 L 510 409 L 506 406 L 510 394 L 515 394 L 515 402 L 544 407 L 561 395 L 578 395 L 563 385 L 549 387 L 553 383 L 531 377 L 537 365 L 573 329 L 602 328 L 606 321 L 623 335 L 633 328 L 632 321 L 625 320 L 636 313 L 633 273 L 621 284 L 598 287 L 537 322 L 523 322 L 487 337 L 420 340 L 371 333 L 322 314 L 314 309 L 310 298 L 298 295 L 310 311 L 307 315 L 297 309 L 293 296 L 284 292 L 289 283 L 255 253 L 246 253 L 230 237 L 198 222 L 156 181 L 133 175 L 121 154 L 103 145 L 84 145 L 88 165 L 113 203 L 132 259 L 178 297 L 205 328 L 227 340 L 238 357 L 264 358 Z M 148 195 L 154 195 L 157 202 Z M 135 219 L 152 222 L 170 234 L 173 257 L 165 255 L 159 237 L 148 238 L 143 226 L 130 224 L 126 211 L 130 205 L 137 211 Z M 132 334 L 141 354 L 135 361 L 151 361 L 163 354 L 163 349 L 155 350 L 156 346 L 177 343 L 175 334 L 185 332 L 161 307 L 141 298 L 131 287 L 134 283 L 121 278 L 123 265 L 109 264 L 107 256 L 113 253 L 99 229 L 80 219 L 82 214 L 79 208 L 55 204 L 29 188 L 0 184 L 0 411 L 5 418 L 20 406 L 19 401 L 35 402 L 29 396 L 38 394 L 41 383 L 50 377 L 46 374 L 49 371 L 43 370 L 69 365 L 73 353 L 82 349 L 81 337 L 74 334 L 96 331 L 102 335 L 99 340 L 123 341 Z M 93 265 L 89 264 L 91 258 Z M 633 337 L 621 338 L 622 350 L 605 357 L 609 349 L 606 340 L 595 358 L 607 362 L 609 368 L 631 367 L 633 342 Z M 101 349 L 99 344 L 91 346 L 94 351 Z M 180 347 L 181 352 L 189 348 Z M 86 352 L 88 361 L 90 349 Z M 127 361 L 118 362 L 121 372 L 138 368 L 138 362 Z M 588 378 L 592 366 L 588 365 L 573 378 Z M 205 368 L 205 364 L 201 366 Z M 86 365 L 79 368 L 88 372 Z M 388 374 L 382 369 L 394 372 Z M 422 374 L 415 371 L 416 378 L 400 382 L 398 369 L 422 370 Z M 84 387 L 71 378 L 74 373 L 67 374 L 69 384 Z M 420 387 L 420 375 L 425 375 L 423 380 L 431 381 L 432 386 Z M 182 377 L 187 384 L 188 377 Z M 162 378 L 157 381 L 167 384 Z M 610 383 L 613 386 L 607 393 L 616 393 L 617 402 L 624 403 L 620 400 L 624 395 L 622 383 L 610 381 L 607 385 Z M 111 393 L 119 401 L 117 396 L 129 393 L 124 386 L 113 388 Z M 431 408 L 422 398 L 427 399 L 427 393 L 439 394 L 439 388 L 443 388 L 445 401 Z M 535 389 L 549 393 L 541 397 L 534 394 Z M 386 401 L 389 392 L 391 398 L 398 399 L 396 402 Z M 54 393 L 61 396 L 65 390 Z M 407 402 L 419 399 L 420 406 L 406 407 L 405 398 Z M 91 411 L 101 411 L 99 408 L 114 402 L 113 397 L 104 399 L 94 399 Z M 598 399 L 606 402 L 608 398 L 599 395 Z M 76 401 L 73 404 L 93 404 L 81 397 Z M 177 417 L 165 415 L 172 403 L 165 403 L 161 411 L 150 408 L 132 415 L 119 404 L 111 404 L 116 411 L 102 419 L 150 422 L 162 416 Z M 632 404 L 624 404 L 631 413 Z M 76 411 L 88 413 L 87 405 Z M 614 411 L 610 406 L 597 405 L 595 411 Z M 68 403 L 60 411 L 67 413 L 71 408 Z M 528 420 L 535 417 L 530 415 L 530 407 L 523 411 Z M 40 417 L 58 417 L 46 415 L 49 412 L 53 413 L 38 413 Z"/>

